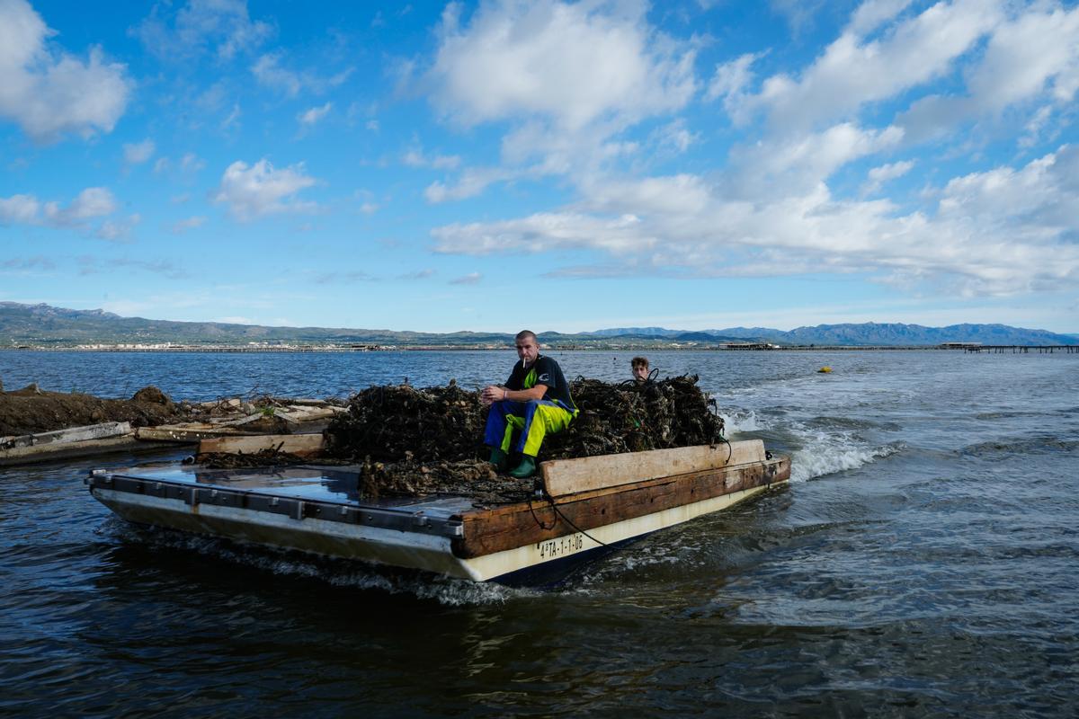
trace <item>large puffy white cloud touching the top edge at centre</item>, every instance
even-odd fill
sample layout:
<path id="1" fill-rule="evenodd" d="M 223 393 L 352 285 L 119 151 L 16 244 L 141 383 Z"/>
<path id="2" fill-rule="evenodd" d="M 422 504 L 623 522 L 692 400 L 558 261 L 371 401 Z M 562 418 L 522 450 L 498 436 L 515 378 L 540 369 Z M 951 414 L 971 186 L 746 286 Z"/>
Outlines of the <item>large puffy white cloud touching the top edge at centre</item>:
<path id="1" fill-rule="evenodd" d="M 481 5 L 467 27 L 448 9 L 428 79 L 462 123 L 542 115 L 573 132 L 683 107 L 693 59 L 650 30 L 643 5 L 505 0 Z"/>

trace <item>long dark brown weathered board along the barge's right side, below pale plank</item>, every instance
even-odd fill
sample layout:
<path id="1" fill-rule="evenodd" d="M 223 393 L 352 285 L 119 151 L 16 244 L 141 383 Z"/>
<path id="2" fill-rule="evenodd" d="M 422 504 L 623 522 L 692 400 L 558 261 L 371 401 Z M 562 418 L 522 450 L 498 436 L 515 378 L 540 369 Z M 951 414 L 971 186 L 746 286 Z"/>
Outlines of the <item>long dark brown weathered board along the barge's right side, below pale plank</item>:
<path id="1" fill-rule="evenodd" d="M 453 541 L 453 553 L 463 558 L 482 556 L 561 537 L 577 529 L 588 530 L 743 489 L 786 482 L 790 475 L 790 458 L 777 457 L 752 465 L 645 480 L 632 485 L 555 498 L 552 501 L 558 512 L 550 501 L 544 500 L 478 509 L 461 515 L 464 537 Z"/>

